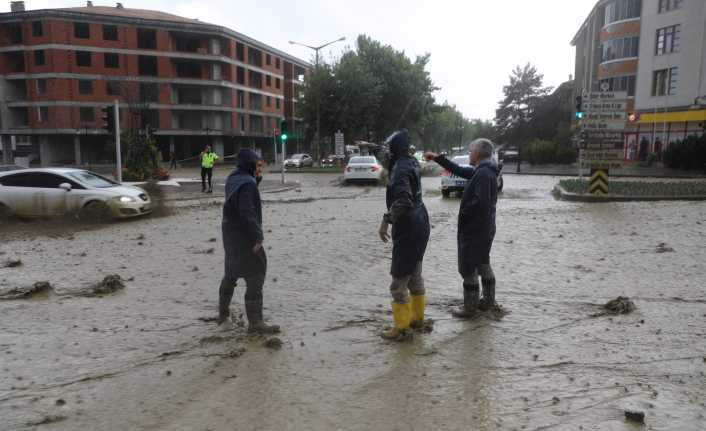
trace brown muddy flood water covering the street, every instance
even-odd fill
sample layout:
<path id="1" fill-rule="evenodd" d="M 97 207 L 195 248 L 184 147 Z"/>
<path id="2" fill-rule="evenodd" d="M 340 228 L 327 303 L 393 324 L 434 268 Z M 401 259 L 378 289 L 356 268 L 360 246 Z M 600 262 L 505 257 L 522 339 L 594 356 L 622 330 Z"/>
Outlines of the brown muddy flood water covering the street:
<path id="1" fill-rule="evenodd" d="M 508 314 L 459 321 L 459 201 L 425 178 L 434 330 L 394 343 L 379 336 L 384 190 L 290 179 L 301 188 L 263 194 L 279 349 L 213 321 L 217 197 L 107 226 L 0 228 L 0 289 L 49 283 L 0 300 L 0 429 L 706 429 L 706 203 L 567 203 L 558 178 L 507 175 L 492 262 Z M 635 310 L 606 314 L 618 296 Z"/>

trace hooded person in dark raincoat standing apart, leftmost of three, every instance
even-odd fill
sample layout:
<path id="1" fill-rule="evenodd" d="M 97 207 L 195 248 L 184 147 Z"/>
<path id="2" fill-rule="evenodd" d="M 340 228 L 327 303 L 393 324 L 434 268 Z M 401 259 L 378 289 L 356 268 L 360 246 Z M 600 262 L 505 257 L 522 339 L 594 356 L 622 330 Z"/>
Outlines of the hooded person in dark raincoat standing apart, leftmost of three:
<path id="1" fill-rule="evenodd" d="M 239 278 L 245 279 L 245 313 L 250 332 L 279 332 L 265 325 L 262 317 L 262 286 L 267 273 L 267 256 L 262 247 L 262 204 L 257 188 L 262 178 L 260 157 L 250 149 L 238 153 L 238 168 L 226 180 L 223 204 L 223 247 L 225 274 L 219 289 L 218 322 L 230 321 L 230 301 Z"/>

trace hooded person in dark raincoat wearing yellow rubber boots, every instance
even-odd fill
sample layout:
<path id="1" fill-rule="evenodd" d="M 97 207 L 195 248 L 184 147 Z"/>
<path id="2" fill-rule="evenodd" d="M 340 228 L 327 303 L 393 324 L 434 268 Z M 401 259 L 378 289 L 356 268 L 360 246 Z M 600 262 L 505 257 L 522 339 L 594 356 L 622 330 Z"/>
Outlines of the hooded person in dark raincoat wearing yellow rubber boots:
<path id="1" fill-rule="evenodd" d="M 410 155 L 409 133 L 400 130 L 386 142 L 390 149 L 389 185 L 385 200 L 387 212 L 378 234 L 389 240 L 392 225 L 392 315 L 394 327 L 384 338 L 402 339 L 410 327 L 424 323 L 426 291 L 422 278 L 422 261 L 429 241 L 429 214 L 422 201 L 421 168 Z"/>

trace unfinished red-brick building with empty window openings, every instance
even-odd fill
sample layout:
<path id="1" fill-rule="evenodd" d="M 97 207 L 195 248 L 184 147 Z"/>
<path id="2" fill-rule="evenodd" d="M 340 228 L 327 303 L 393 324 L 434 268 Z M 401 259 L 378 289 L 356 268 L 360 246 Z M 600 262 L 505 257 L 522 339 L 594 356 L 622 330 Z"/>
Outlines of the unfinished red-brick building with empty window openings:
<path id="1" fill-rule="evenodd" d="M 301 128 L 310 65 L 233 30 L 163 12 L 93 6 L 0 14 L 0 135 L 5 162 L 114 160 L 102 108 L 155 136 L 164 158 L 256 148 L 271 157 L 282 120 Z"/>

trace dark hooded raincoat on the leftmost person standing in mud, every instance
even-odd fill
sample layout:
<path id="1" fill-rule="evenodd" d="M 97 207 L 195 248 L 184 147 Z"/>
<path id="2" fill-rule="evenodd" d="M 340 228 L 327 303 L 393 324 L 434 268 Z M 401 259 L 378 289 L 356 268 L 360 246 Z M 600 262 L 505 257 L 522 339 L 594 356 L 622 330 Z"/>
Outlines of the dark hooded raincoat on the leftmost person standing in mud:
<path id="1" fill-rule="evenodd" d="M 257 189 L 255 170 L 260 157 L 249 149 L 238 153 L 238 169 L 226 180 L 223 204 L 223 247 L 225 273 L 231 279 L 264 274 L 267 258 L 264 250 L 252 249 L 262 235 L 262 204 Z"/>

